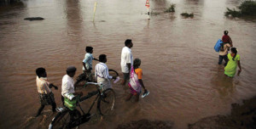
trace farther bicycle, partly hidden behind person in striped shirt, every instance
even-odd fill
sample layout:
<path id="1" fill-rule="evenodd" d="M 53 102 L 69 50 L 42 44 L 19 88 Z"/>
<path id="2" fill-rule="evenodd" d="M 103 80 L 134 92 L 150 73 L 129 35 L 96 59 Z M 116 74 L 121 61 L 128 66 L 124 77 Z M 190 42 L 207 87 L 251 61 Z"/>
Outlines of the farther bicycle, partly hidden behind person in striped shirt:
<path id="1" fill-rule="evenodd" d="M 115 70 L 109 69 L 108 70 L 108 74 L 110 76 L 119 76 L 119 73 Z M 74 83 L 74 86 L 78 86 L 81 85 L 81 83 L 84 82 L 84 84 L 86 82 L 91 82 L 93 80 L 93 78 L 90 78 L 90 76 L 94 76 L 93 73 L 90 73 L 90 75 L 87 75 L 87 73 L 83 72 L 82 74 L 80 74 L 77 78 L 76 81 Z M 83 85 L 83 84 L 82 84 Z M 85 86 L 85 85 L 84 85 Z"/>

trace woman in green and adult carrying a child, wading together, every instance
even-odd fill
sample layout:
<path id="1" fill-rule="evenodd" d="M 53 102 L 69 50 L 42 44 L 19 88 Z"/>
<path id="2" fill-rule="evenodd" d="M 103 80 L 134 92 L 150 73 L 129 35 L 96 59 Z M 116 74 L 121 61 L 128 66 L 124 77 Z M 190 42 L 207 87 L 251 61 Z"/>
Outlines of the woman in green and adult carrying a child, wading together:
<path id="1" fill-rule="evenodd" d="M 226 76 L 234 77 L 236 75 L 236 67 L 238 65 L 239 70 L 237 72 L 237 75 L 241 72 L 241 64 L 240 64 L 240 55 L 237 54 L 237 49 L 232 48 L 233 42 L 228 35 L 229 31 L 224 31 L 224 36 L 222 36 L 222 44 L 219 51 L 219 58 L 218 58 L 218 64 L 222 64 L 223 59 L 225 60 L 224 63 L 224 74 Z M 231 53 L 228 53 L 231 48 Z"/>

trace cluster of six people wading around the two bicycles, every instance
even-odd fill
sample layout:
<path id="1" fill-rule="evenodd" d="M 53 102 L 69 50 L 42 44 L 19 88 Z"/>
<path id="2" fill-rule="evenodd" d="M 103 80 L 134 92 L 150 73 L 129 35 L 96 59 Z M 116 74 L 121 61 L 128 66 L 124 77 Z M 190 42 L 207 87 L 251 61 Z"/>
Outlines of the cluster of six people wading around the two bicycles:
<path id="1" fill-rule="evenodd" d="M 139 68 L 141 65 L 141 59 L 134 59 L 131 53 L 131 48 L 133 47 L 133 43 L 131 39 L 127 39 L 125 41 L 125 47 L 122 49 L 121 53 L 121 70 L 124 75 L 123 81 L 121 82 L 122 85 L 125 86 L 126 82 L 128 81 L 128 87 L 130 89 L 130 94 L 125 98 L 126 101 L 130 100 L 132 96 L 136 97 L 136 101 L 139 100 L 139 95 L 141 93 L 141 89 L 143 88 L 144 93 L 143 95 L 148 95 L 148 90 L 144 87 L 143 84 L 143 70 Z M 111 80 L 115 80 L 117 76 L 109 76 L 108 73 L 108 65 L 107 62 L 107 55 L 101 54 L 99 59 L 95 59 L 92 55 L 93 48 L 86 47 L 85 48 L 85 55 L 83 60 L 83 72 L 86 76 L 88 76 L 90 81 L 93 81 L 93 77 L 91 76 L 92 71 L 92 60 L 99 61 L 98 64 L 95 66 L 95 79 L 97 83 L 102 83 L 102 90 L 106 90 L 108 88 L 112 88 Z M 82 96 L 82 92 L 76 92 L 74 85 L 73 76 L 76 74 L 76 67 L 69 66 L 67 67 L 67 74 L 62 77 L 61 83 L 61 101 L 64 104 L 64 98 L 67 98 L 70 94 L 74 96 Z M 41 107 L 38 109 L 38 115 L 41 114 L 42 110 L 44 109 L 45 105 L 51 105 L 52 111 L 55 112 L 56 103 L 54 94 L 51 92 L 51 88 L 55 87 L 55 90 L 58 89 L 52 83 L 49 83 L 47 80 L 47 73 L 46 70 L 42 67 L 36 70 L 37 74 L 37 87 L 39 93 L 39 99 Z"/>

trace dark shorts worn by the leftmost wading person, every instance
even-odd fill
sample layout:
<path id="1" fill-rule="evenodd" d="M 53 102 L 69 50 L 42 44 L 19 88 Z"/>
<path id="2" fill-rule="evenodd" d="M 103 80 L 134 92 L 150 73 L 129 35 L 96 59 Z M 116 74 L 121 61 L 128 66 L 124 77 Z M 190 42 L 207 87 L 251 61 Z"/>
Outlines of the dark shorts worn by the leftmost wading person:
<path id="1" fill-rule="evenodd" d="M 55 95 L 53 93 L 39 93 L 40 103 L 44 105 L 55 104 Z"/>

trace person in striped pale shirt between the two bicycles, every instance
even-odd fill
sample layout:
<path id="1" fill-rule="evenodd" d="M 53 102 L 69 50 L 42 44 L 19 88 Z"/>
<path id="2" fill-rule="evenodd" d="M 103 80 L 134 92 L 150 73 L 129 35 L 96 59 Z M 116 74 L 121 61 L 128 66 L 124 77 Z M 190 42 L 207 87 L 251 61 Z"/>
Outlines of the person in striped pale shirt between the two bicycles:
<path id="1" fill-rule="evenodd" d="M 109 76 L 108 74 L 108 66 L 105 64 L 107 62 L 107 55 L 101 54 L 99 56 L 100 63 L 96 64 L 95 67 L 95 77 L 97 83 L 102 82 L 103 87 L 102 90 L 106 90 L 108 88 L 112 88 L 111 79 L 116 79 L 116 76 Z"/>

